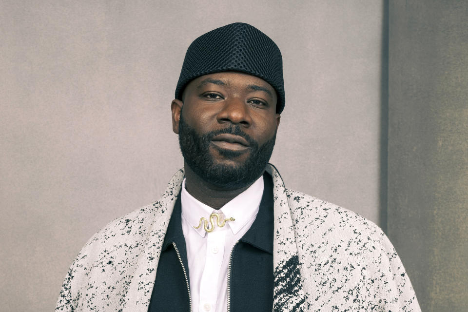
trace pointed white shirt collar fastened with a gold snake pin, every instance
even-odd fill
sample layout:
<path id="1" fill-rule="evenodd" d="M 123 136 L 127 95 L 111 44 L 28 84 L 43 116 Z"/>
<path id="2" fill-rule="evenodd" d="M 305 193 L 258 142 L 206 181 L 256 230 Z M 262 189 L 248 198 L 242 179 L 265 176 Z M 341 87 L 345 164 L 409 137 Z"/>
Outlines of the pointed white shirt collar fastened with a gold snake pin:
<path id="1" fill-rule="evenodd" d="M 263 176 L 260 176 L 247 190 L 231 199 L 227 204 L 216 211 L 205 205 L 189 194 L 185 189 L 185 178 L 182 182 L 180 200 L 182 205 L 182 217 L 192 225 L 192 229 L 201 237 L 205 237 L 203 226 L 195 229 L 201 217 L 208 219 L 211 213 L 223 213 L 225 218 L 234 217 L 235 221 L 229 221 L 229 226 L 233 234 L 237 234 L 247 223 L 258 213 L 264 189 Z"/>

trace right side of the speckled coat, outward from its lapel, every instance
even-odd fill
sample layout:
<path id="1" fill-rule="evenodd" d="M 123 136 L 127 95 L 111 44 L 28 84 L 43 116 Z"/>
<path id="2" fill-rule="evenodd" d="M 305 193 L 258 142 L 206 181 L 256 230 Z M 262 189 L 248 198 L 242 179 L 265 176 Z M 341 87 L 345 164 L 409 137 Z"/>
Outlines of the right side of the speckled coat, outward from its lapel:
<path id="1" fill-rule="evenodd" d="M 420 311 L 400 258 L 376 224 L 314 196 L 286 193 L 302 282 L 312 305 Z"/>

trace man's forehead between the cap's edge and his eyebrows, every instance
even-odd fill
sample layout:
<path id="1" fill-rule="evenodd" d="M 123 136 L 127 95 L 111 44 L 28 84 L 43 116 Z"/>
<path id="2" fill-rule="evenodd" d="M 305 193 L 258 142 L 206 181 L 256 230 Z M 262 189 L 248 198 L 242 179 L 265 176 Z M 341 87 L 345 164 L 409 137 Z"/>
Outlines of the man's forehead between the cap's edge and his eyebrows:
<path id="1" fill-rule="evenodd" d="M 220 72 L 203 75 L 190 81 L 187 88 L 189 86 L 199 88 L 210 84 L 244 88 L 257 86 L 260 87 L 259 91 L 265 91 L 272 96 L 275 95 L 274 88 L 262 78 L 239 72 Z"/>

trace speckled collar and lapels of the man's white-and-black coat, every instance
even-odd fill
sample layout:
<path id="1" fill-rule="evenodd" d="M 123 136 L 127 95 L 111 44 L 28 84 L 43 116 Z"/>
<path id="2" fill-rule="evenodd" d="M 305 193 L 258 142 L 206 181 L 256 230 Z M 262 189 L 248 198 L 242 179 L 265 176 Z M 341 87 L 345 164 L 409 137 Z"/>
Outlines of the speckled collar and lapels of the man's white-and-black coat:
<path id="1" fill-rule="evenodd" d="M 299 258 L 294 237 L 288 195 L 276 168 L 268 164 L 266 172 L 273 180 L 273 311 L 305 311 L 305 294 L 299 271 Z M 135 254 L 136 266 L 129 270 L 128 292 L 122 299 L 123 312 L 146 312 L 151 299 L 157 263 L 171 215 L 178 198 L 184 171 L 179 170 L 171 179 L 161 198 L 153 203 L 145 220 L 146 238 L 141 252 Z M 258 244 L 265 238 L 249 237 L 249 243 Z M 261 245 L 261 244 L 260 244 Z M 167 245 L 166 245 L 167 246 Z M 268 248 L 267 248 L 268 249 Z M 266 250 L 267 251 L 267 250 Z"/>

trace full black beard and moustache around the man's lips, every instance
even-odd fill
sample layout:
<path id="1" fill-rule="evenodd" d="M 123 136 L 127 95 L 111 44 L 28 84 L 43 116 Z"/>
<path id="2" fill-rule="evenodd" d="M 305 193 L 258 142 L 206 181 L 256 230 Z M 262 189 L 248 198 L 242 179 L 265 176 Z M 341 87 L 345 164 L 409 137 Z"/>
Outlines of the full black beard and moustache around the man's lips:
<path id="1" fill-rule="evenodd" d="M 223 133 L 241 136 L 249 142 L 249 156 L 243 164 L 230 165 L 215 161 L 210 153 L 211 141 L 213 137 Z M 222 190 L 239 189 L 254 183 L 265 171 L 265 166 L 273 153 L 275 139 L 276 131 L 270 140 L 259 146 L 252 137 L 241 130 L 239 125 L 199 136 L 195 129 L 184 121 L 182 113 L 180 114 L 179 145 L 186 164 L 197 176 Z M 224 149 L 217 151 L 227 159 L 234 159 L 247 153 Z"/>

